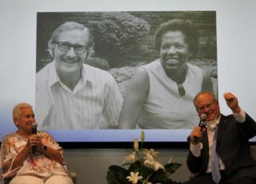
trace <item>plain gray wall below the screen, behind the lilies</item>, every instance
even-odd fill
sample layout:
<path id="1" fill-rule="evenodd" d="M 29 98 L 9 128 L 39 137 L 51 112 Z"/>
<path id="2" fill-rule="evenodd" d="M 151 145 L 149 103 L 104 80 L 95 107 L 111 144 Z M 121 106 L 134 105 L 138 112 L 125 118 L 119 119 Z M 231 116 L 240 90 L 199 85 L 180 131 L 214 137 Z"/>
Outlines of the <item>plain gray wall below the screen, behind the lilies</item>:
<path id="1" fill-rule="evenodd" d="M 166 164 L 173 157 L 172 162 L 183 164 L 173 174 L 174 181 L 187 181 L 191 174 L 186 166 L 187 149 L 156 149 L 160 152 L 160 163 Z M 256 146 L 253 146 L 253 158 L 256 160 Z M 107 184 L 108 166 L 121 165 L 123 158 L 132 149 L 67 149 L 66 161 L 68 170 L 77 173 L 77 184 Z M 3 184 L 3 182 L 0 182 Z"/>

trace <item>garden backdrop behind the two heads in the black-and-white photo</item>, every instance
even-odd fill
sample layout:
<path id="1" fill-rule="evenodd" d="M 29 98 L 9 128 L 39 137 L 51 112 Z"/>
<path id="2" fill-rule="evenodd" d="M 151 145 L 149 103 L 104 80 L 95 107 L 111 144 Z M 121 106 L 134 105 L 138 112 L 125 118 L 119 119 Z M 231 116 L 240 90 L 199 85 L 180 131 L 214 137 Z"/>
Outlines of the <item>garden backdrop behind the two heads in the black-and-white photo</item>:
<path id="1" fill-rule="evenodd" d="M 176 18 L 191 20 L 199 30 L 196 59 L 216 62 L 215 11 L 44 12 L 38 13 L 37 20 L 36 71 L 52 61 L 47 51 L 49 37 L 66 21 L 79 22 L 92 30 L 96 59 L 88 63 L 108 70 L 108 66 L 140 66 L 159 58 L 159 52 L 154 49 L 154 32 L 161 23 Z"/>

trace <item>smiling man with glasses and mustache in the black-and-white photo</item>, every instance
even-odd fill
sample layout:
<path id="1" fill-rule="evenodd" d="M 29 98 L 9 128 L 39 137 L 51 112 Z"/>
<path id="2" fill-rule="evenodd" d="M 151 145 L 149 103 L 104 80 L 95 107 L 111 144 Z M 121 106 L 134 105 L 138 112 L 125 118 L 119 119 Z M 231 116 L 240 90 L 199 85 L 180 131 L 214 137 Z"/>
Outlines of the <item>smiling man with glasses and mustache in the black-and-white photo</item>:
<path id="1" fill-rule="evenodd" d="M 66 22 L 48 43 L 53 61 L 37 73 L 36 114 L 43 129 L 108 129 L 122 96 L 111 74 L 84 62 L 93 50 L 87 27 Z"/>

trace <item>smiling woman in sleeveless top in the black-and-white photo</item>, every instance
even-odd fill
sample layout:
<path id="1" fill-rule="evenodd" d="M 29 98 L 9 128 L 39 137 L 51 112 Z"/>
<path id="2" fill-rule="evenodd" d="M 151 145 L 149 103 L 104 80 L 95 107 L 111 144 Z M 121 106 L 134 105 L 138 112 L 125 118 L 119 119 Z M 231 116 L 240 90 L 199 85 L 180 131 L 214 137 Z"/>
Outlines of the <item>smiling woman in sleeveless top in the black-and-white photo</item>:
<path id="1" fill-rule="evenodd" d="M 192 129 L 199 119 L 195 95 L 213 91 L 210 72 L 189 61 L 198 32 L 189 20 L 173 19 L 155 32 L 160 58 L 138 67 L 125 94 L 119 129 Z"/>

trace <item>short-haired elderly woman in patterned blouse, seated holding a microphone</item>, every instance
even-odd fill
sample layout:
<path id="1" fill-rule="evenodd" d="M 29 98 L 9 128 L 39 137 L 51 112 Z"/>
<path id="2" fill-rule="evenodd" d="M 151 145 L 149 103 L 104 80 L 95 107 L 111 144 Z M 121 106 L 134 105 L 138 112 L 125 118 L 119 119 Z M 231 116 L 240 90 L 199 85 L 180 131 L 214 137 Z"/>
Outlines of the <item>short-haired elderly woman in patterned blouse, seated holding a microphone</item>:
<path id="1" fill-rule="evenodd" d="M 73 184 L 58 143 L 45 131 L 32 134 L 35 124 L 32 106 L 17 104 L 13 119 L 18 130 L 3 136 L 1 179 L 12 177 L 10 184 Z"/>

